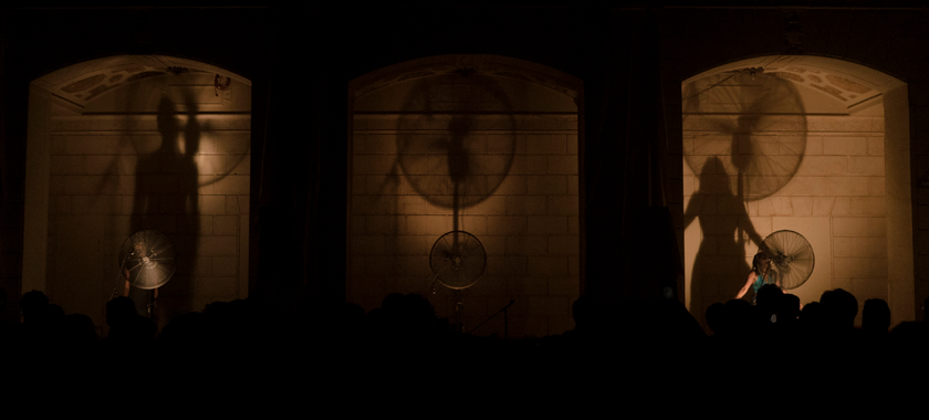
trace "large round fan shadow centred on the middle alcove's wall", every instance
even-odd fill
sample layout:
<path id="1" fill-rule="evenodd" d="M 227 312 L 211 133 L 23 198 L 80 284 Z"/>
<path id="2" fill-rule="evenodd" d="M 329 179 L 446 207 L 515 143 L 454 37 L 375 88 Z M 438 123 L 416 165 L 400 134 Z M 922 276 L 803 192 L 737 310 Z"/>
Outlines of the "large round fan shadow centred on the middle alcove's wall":
<path id="1" fill-rule="evenodd" d="M 462 69 L 416 82 L 399 118 L 399 165 L 413 189 L 456 211 L 500 187 L 516 149 L 513 107 L 492 77 Z"/>

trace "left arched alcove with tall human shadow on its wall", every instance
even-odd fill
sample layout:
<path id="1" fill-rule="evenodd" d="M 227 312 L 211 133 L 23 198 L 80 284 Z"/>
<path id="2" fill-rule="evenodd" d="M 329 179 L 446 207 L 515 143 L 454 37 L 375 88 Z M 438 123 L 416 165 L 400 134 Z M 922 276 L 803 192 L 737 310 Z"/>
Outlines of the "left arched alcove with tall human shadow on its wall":
<path id="1" fill-rule="evenodd" d="M 250 118 L 248 80 L 186 59 L 109 56 L 33 81 L 23 292 L 44 291 L 102 327 L 121 246 L 157 230 L 177 252 L 159 327 L 246 297 Z"/>

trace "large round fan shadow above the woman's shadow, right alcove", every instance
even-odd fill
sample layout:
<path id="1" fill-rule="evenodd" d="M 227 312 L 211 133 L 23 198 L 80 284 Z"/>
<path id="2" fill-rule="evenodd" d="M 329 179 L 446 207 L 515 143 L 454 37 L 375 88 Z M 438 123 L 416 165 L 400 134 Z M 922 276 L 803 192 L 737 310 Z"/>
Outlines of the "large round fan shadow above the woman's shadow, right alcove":
<path id="1" fill-rule="evenodd" d="M 753 69 L 754 71 L 754 69 Z M 703 174 L 718 157 L 733 196 L 759 200 L 783 188 L 796 174 L 806 149 L 806 117 L 796 86 L 779 73 L 734 71 L 682 88 L 685 160 Z M 720 174 L 722 175 L 722 174 Z"/>

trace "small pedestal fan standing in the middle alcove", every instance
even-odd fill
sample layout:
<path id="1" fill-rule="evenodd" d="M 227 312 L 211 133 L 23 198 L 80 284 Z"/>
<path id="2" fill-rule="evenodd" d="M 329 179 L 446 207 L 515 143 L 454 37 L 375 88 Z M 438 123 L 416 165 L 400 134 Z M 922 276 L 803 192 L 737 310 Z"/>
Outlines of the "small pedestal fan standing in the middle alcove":
<path id="1" fill-rule="evenodd" d="M 432 280 L 432 293 L 436 282 L 455 291 L 455 323 L 461 332 L 463 305 L 461 291 L 473 286 L 487 267 L 487 252 L 483 244 L 473 234 L 453 230 L 432 244 L 429 253 L 429 266 L 436 277 Z"/>

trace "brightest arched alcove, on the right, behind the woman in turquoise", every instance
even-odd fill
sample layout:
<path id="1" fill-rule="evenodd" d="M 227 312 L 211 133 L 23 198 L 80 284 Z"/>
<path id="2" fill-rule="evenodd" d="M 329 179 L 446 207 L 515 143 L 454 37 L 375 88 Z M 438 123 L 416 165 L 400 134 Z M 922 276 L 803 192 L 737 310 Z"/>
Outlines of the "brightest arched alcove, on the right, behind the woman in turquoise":
<path id="1" fill-rule="evenodd" d="M 841 287 L 911 318 L 906 84 L 842 60 L 780 55 L 698 74 L 681 97 L 686 295 L 699 319 L 737 294 L 756 242 L 779 230 L 815 252 L 810 280 L 791 291 L 803 304 Z"/>

